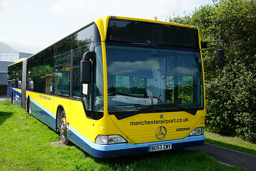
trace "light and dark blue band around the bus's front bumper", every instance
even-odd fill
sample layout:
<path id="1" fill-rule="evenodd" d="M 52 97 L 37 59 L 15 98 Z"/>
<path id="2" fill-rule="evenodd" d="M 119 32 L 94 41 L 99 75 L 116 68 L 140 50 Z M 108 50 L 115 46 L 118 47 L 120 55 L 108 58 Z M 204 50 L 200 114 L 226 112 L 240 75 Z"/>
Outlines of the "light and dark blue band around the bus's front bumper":
<path id="1" fill-rule="evenodd" d="M 149 145 L 158 145 L 165 143 L 172 143 L 172 149 L 192 147 L 203 145 L 204 143 L 204 135 L 201 136 L 191 136 L 186 137 L 184 139 L 178 140 L 169 140 L 169 141 L 160 141 L 160 142 L 150 142 L 150 143 L 140 143 L 140 144 L 132 144 L 132 143 L 120 143 L 120 144 L 109 144 L 109 145 L 101 145 L 96 144 L 90 141 L 88 138 L 84 137 L 82 134 L 77 132 L 72 126 L 67 125 L 67 129 L 69 129 L 68 138 L 73 141 L 76 145 L 81 147 L 84 151 L 89 153 L 94 157 L 115 157 L 125 155 L 135 155 L 135 154 L 143 154 L 148 153 Z"/>

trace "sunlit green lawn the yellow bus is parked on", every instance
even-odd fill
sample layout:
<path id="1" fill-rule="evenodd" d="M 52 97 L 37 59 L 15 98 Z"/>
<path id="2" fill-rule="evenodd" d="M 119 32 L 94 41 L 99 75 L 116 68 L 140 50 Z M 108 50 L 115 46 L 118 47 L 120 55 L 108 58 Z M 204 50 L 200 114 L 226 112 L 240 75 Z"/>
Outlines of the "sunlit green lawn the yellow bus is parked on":
<path id="1" fill-rule="evenodd" d="M 188 149 L 100 159 L 76 145 L 55 147 L 55 141 L 59 135 L 44 123 L 0 102 L 0 170 L 244 170 Z"/>

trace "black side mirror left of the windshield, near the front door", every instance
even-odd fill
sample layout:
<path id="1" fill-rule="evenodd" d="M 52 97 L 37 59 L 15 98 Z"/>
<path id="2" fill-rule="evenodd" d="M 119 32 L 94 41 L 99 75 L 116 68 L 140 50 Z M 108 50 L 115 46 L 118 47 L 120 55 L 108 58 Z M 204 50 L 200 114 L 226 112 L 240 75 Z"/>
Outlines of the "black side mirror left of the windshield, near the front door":
<path id="1" fill-rule="evenodd" d="M 82 84 L 90 84 L 92 82 L 92 56 L 93 52 L 86 52 L 83 54 L 80 73 L 80 82 Z"/>

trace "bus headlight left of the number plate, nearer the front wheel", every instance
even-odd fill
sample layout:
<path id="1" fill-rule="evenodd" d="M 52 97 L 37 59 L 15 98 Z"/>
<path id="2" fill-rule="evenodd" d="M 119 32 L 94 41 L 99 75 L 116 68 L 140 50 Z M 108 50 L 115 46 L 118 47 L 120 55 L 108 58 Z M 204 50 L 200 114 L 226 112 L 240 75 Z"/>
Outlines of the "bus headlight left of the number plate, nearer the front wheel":
<path id="1" fill-rule="evenodd" d="M 116 144 L 116 143 L 123 143 L 127 142 L 122 136 L 120 135 L 99 135 L 96 140 L 96 144 Z"/>

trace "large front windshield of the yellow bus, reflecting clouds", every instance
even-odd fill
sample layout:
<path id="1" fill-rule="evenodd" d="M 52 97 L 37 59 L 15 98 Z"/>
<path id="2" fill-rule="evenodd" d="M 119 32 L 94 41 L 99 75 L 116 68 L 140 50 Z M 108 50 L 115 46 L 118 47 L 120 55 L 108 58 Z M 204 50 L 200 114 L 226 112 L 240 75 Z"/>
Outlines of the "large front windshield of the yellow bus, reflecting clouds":
<path id="1" fill-rule="evenodd" d="M 109 114 L 204 107 L 199 49 L 106 42 L 106 61 Z"/>

